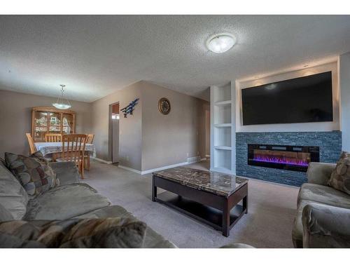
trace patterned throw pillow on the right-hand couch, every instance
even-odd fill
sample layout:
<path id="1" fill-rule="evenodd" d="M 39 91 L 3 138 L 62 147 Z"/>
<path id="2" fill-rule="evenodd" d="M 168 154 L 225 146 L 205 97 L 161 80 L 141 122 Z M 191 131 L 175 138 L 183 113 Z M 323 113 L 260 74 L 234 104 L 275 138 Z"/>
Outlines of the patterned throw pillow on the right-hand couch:
<path id="1" fill-rule="evenodd" d="M 330 175 L 330 187 L 350 194 L 350 153 L 343 151 L 335 170 Z"/>

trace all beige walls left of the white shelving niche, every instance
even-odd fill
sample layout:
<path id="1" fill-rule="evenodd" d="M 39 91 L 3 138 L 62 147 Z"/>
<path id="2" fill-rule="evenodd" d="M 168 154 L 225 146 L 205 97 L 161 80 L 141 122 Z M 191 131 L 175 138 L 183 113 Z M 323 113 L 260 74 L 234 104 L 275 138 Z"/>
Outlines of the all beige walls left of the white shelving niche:
<path id="1" fill-rule="evenodd" d="M 161 86 L 140 81 L 92 103 L 71 101 L 76 112 L 77 133 L 94 133 L 97 158 L 109 160 L 109 105 L 120 108 L 139 97 L 132 116 L 120 115 L 120 165 L 149 170 L 206 155 L 205 110 L 209 102 Z M 160 114 L 158 100 L 172 104 L 168 115 Z M 28 153 L 25 133 L 31 132 L 31 108 L 50 107 L 55 97 L 0 90 L 0 154 Z"/>

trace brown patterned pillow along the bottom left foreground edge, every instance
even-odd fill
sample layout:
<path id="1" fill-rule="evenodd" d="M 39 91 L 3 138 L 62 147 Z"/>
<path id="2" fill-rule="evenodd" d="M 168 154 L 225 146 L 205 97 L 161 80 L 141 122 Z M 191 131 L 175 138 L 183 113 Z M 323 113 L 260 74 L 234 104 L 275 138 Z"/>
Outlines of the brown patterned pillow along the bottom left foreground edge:
<path id="1" fill-rule="evenodd" d="M 0 248 L 142 248 L 146 227 L 130 217 L 0 222 Z"/>

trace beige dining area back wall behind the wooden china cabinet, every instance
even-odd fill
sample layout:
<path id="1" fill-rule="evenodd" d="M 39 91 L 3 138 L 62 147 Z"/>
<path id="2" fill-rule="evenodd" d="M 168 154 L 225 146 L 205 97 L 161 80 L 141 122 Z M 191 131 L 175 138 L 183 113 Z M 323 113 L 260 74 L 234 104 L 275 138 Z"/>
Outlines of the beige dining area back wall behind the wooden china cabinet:
<path id="1" fill-rule="evenodd" d="M 0 87 L 1 88 L 1 87 Z M 25 133 L 31 133 L 31 108 L 51 107 L 57 97 L 0 90 L 0 156 L 5 151 L 28 154 Z M 91 104 L 71 101 L 76 112 L 76 132 L 91 133 Z"/>

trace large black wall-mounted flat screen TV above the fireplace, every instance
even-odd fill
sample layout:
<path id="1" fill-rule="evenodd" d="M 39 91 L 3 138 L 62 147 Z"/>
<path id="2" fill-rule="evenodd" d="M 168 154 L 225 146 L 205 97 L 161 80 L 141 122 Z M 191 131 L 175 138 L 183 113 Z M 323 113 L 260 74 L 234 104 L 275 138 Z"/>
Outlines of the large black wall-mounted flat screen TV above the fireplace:
<path id="1" fill-rule="evenodd" d="M 333 121 L 332 72 L 241 90 L 243 125 Z"/>

